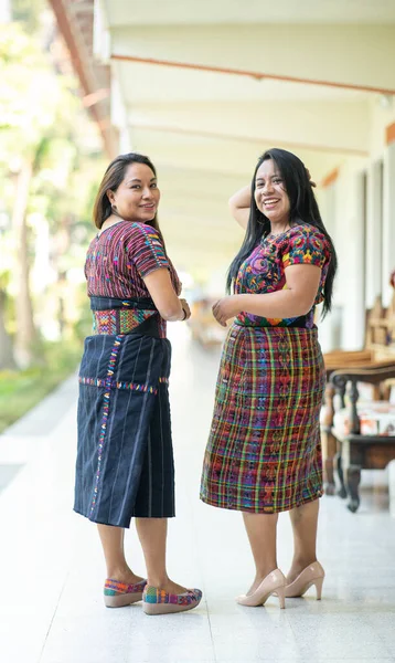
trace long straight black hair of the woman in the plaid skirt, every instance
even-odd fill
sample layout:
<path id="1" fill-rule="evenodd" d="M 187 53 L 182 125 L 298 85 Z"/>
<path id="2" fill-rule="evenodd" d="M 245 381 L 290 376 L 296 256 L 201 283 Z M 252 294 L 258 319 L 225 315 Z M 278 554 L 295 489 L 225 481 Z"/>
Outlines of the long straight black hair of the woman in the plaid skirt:
<path id="1" fill-rule="evenodd" d="M 333 280 L 338 269 L 337 252 L 333 242 L 322 222 L 320 210 L 317 204 L 316 196 L 312 190 L 309 171 L 302 161 L 292 152 L 285 149 L 268 149 L 257 162 L 250 187 L 250 208 L 249 219 L 244 238 L 244 242 L 236 257 L 232 261 L 227 272 L 226 290 L 229 293 L 232 283 L 237 276 L 242 263 L 250 255 L 261 239 L 270 232 L 270 221 L 263 212 L 258 210 L 255 202 L 255 178 L 258 168 L 264 161 L 273 159 L 281 173 L 285 190 L 289 198 L 289 222 L 290 225 L 298 223 L 309 223 L 314 225 L 325 235 L 331 250 L 331 261 L 328 267 L 325 284 L 323 287 L 323 309 L 322 316 L 331 309 Z"/>

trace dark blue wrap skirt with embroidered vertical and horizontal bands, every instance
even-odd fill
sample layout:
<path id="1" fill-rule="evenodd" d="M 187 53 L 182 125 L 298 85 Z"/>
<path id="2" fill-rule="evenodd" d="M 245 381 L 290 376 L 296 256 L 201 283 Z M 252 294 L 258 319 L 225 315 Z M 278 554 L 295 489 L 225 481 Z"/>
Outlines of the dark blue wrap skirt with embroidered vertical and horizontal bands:
<path id="1" fill-rule="evenodd" d="M 170 365 L 170 341 L 140 327 L 85 339 L 74 511 L 89 520 L 174 516 Z"/>

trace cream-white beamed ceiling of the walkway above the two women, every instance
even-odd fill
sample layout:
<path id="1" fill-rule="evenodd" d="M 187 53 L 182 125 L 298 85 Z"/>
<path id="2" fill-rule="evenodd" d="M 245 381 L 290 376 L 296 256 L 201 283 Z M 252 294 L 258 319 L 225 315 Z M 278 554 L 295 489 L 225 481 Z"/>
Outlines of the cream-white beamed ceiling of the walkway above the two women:
<path id="1" fill-rule="evenodd" d="M 167 245 L 200 276 L 241 244 L 227 200 L 263 151 L 296 152 L 318 182 L 363 167 L 372 87 L 395 91 L 395 0 L 96 0 L 95 12 L 120 149 L 156 164 Z"/>

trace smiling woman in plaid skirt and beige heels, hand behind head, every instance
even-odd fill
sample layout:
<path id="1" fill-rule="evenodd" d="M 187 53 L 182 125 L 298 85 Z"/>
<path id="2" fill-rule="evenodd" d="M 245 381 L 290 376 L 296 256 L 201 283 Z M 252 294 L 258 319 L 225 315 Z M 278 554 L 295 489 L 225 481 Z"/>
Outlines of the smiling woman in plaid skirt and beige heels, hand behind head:
<path id="1" fill-rule="evenodd" d="M 243 606 L 270 594 L 285 607 L 312 585 L 321 598 L 324 571 L 316 556 L 322 467 L 319 414 L 325 372 L 314 307 L 330 311 L 337 271 L 309 171 L 295 155 L 270 149 L 252 187 L 231 199 L 246 228 L 231 264 L 233 294 L 213 306 L 226 326 L 201 498 L 243 513 L 256 566 Z M 277 568 L 276 532 L 288 511 L 293 560 L 287 578 Z"/>

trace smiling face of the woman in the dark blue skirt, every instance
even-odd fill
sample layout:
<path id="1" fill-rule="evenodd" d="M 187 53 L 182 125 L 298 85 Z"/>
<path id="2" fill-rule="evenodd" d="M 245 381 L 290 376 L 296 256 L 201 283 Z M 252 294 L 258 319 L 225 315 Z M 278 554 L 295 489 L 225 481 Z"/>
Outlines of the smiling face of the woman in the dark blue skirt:
<path id="1" fill-rule="evenodd" d="M 145 164 L 130 164 L 118 189 L 107 196 L 119 217 L 141 223 L 152 221 L 160 200 L 156 175 Z"/>

